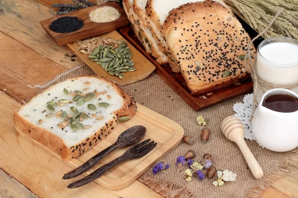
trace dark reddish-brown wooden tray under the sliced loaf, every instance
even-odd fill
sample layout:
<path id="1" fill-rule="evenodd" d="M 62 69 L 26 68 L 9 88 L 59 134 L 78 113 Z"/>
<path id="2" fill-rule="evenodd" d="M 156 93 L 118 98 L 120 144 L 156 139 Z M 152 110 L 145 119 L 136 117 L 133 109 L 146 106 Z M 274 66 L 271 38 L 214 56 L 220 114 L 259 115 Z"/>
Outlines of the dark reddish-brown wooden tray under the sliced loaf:
<path id="1" fill-rule="evenodd" d="M 190 95 L 191 92 L 188 89 L 181 73 L 172 72 L 172 69 L 168 64 L 159 65 L 155 59 L 145 51 L 131 26 L 120 29 L 120 34 L 136 49 L 141 51 L 156 66 L 156 73 L 195 111 L 220 103 L 224 100 L 240 96 L 252 91 L 253 89 L 253 83 L 249 79 L 241 82 L 241 85 L 231 85 L 229 87 L 212 91 L 213 94 L 211 96 L 207 96 L 206 94 L 192 96 Z M 207 99 L 202 99 L 202 96 L 205 96 Z"/>

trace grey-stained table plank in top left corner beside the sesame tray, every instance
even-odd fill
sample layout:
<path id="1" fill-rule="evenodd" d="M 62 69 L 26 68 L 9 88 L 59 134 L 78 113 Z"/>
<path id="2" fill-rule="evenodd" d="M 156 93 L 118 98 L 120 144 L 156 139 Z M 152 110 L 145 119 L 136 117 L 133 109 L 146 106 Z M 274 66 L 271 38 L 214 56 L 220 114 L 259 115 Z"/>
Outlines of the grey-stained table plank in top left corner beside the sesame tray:
<path id="1" fill-rule="evenodd" d="M 70 51 L 57 46 L 39 24 L 53 16 L 55 11 L 33 0 L 1 0 L 0 31 L 62 67 L 74 68 L 83 62 L 79 58 L 74 58 L 74 62 L 64 59 Z"/>

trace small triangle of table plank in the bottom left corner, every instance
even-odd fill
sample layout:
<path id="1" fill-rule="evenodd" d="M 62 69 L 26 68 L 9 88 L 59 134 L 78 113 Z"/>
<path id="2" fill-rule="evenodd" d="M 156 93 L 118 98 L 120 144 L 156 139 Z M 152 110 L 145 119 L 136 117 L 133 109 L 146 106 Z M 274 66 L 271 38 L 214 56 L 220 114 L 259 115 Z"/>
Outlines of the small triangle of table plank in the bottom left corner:
<path id="1" fill-rule="evenodd" d="M 37 198 L 37 196 L 0 169 L 0 198 Z"/>

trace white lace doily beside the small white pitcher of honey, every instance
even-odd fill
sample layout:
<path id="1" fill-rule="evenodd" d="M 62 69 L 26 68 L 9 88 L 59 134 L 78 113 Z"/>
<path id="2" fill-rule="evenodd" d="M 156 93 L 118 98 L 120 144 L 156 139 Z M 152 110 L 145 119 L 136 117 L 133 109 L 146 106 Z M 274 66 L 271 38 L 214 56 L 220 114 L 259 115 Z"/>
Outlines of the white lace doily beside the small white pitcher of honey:
<path id="1" fill-rule="evenodd" d="M 243 98 L 243 103 L 235 103 L 233 106 L 235 116 L 238 117 L 245 126 L 244 138 L 255 140 L 251 130 L 250 116 L 252 113 L 253 94 L 247 94 Z"/>

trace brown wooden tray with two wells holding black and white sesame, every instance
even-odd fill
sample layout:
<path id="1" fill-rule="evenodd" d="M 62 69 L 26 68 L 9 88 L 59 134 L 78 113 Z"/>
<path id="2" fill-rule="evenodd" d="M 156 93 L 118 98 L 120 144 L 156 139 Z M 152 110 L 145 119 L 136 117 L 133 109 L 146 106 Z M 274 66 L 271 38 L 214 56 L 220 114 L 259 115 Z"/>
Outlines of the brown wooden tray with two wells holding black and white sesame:
<path id="1" fill-rule="evenodd" d="M 89 13 L 92 10 L 102 6 L 111 6 L 116 8 L 120 13 L 120 17 L 115 21 L 111 21 L 107 23 L 96 23 L 91 21 L 89 19 Z M 50 30 L 49 25 L 53 21 L 55 21 L 56 19 L 62 16 L 76 16 L 78 19 L 83 20 L 84 26 L 81 29 L 70 33 L 57 33 Z M 41 21 L 40 24 L 45 29 L 47 34 L 50 35 L 50 37 L 57 43 L 57 45 L 61 46 L 68 43 L 72 43 L 74 41 L 78 41 L 95 35 L 110 32 L 121 27 L 125 27 L 129 24 L 129 20 L 126 16 L 126 13 L 123 7 L 120 7 L 120 5 L 118 5 L 115 2 L 108 2 L 101 5 L 94 5 L 84 9 L 79 9 L 77 11 L 63 14 L 61 16 L 56 16 L 50 19 L 46 19 Z"/>

